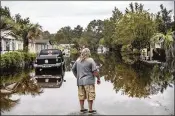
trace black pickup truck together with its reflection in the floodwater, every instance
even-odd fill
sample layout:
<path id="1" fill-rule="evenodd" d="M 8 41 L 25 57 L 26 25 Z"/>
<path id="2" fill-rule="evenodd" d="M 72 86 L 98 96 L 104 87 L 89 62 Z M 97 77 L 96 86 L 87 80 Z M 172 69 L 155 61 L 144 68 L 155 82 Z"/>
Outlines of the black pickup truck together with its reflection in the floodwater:
<path id="1" fill-rule="evenodd" d="M 41 50 L 34 63 L 34 68 L 34 78 L 38 84 L 54 83 L 58 85 L 64 80 L 64 53 L 59 49 Z"/>

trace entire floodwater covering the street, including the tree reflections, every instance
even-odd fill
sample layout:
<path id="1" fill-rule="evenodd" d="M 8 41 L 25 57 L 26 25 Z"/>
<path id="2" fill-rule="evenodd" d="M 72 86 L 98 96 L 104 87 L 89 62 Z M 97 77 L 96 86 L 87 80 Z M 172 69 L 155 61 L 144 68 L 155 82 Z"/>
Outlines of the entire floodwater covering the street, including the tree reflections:
<path id="1" fill-rule="evenodd" d="M 101 115 L 174 115 L 175 61 L 147 64 L 135 56 L 93 54 L 101 66 L 94 109 Z M 76 78 L 66 58 L 66 73 L 58 87 L 42 88 L 28 73 L 3 79 L 4 86 L 17 82 L 13 93 L 1 94 L 2 115 L 79 114 Z M 25 77 L 25 78 L 24 78 Z M 85 108 L 88 108 L 87 102 Z"/>

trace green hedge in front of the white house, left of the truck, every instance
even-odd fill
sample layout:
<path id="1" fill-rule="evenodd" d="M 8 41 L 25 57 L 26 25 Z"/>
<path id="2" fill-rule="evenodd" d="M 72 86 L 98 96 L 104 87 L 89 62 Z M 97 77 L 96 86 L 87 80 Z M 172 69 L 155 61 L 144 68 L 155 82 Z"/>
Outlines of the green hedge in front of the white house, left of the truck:
<path id="1" fill-rule="evenodd" d="M 1 54 L 0 58 L 0 68 L 2 70 L 11 70 L 22 68 L 24 64 L 31 64 L 36 58 L 34 53 L 25 53 L 25 52 L 7 52 Z"/>

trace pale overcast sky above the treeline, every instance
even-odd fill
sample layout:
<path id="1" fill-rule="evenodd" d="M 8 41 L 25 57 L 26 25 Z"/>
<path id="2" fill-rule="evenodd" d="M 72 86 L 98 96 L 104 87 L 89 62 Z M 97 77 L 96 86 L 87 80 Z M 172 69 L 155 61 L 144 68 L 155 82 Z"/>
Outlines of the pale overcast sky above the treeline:
<path id="1" fill-rule="evenodd" d="M 23 18 L 29 17 L 32 23 L 39 23 L 44 31 L 56 33 L 64 26 L 85 28 L 94 19 L 107 19 L 115 6 L 124 12 L 131 2 L 135 1 L 1 1 L 1 6 L 9 7 L 12 16 L 19 13 Z M 160 4 L 174 11 L 173 1 L 137 2 L 152 13 L 160 11 Z"/>

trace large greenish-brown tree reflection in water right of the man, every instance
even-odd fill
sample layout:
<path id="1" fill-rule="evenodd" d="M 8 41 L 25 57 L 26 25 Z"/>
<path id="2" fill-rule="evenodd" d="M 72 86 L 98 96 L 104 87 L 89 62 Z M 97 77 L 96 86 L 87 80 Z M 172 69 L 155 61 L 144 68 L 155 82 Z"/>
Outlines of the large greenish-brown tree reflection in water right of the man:
<path id="1" fill-rule="evenodd" d="M 92 57 L 103 65 L 100 69 L 101 76 L 113 83 L 116 92 L 121 91 L 129 97 L 146 98 L 158 92 L 163 93 L 174 82 L 174 61 L 155 65 L 143 63 L 131 56 L 128 60 L 126 56 L 121 58 L 116 54 Z"/>

